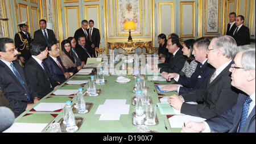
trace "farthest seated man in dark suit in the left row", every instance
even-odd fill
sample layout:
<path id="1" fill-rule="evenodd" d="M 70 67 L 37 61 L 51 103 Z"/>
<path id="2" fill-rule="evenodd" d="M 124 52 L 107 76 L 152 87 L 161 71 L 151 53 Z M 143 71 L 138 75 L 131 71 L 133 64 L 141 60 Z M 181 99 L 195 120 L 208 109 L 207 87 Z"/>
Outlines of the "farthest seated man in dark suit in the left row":
<path id="1" fill-rule="evenodd" d="M 78 44 L 76 44 L 76 53 L 79 56 L 81 62 L 86 64 L 88 57 L 93 57 L 92 49 L 86 47 L 86 41 L 84 36 L 78 38 Z"/>

